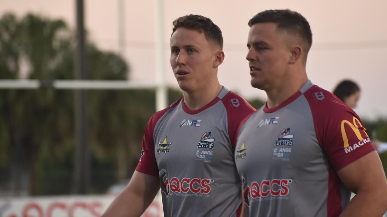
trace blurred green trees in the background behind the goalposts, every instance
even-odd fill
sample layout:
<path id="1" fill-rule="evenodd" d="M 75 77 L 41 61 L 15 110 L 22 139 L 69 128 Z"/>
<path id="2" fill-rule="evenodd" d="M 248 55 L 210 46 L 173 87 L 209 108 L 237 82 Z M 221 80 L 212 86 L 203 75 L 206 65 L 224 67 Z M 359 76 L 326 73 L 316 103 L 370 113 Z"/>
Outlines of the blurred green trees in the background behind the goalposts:
<path id="1" fill-rule="evenodd" d="M 63 20 L 27 14 L 0 19 L 0 79 L 74 79 L 75 38 Z M 127 80 L 117 54 L 87 42 L 90 80 Z M 155 112 L 154 90 L 88 90 L 89 193 L 127 180 L 137 166 L 144 127 Z M 169 88 L 169 103 L 182 97 Z M 248 101 L 259 108 L 264 102 Z M 57 195 L 71 192 L 74 153 L 74 91 L 0 89 L 0 194 Z M 366 122 L 387 141 L 387 121 Z M 371 131 L 370 131 L 371 130 Z M 381 155 L 387 162 L 387 153 Z"/>

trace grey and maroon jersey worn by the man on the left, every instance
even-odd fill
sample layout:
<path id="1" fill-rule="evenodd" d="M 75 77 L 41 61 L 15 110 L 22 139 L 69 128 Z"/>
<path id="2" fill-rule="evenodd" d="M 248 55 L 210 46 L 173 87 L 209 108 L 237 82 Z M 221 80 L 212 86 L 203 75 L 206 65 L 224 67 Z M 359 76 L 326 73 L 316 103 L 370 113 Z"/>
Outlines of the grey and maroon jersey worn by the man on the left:
<path id="1" fill-rule="evenodd" d="M 164 216 L 236 216 L 241 181 L 234 150 L 237 129 L 255 109 L 223 88 L 199 110 L 180 99 L 145 127 L 136 170 L 159 176 Z"/>

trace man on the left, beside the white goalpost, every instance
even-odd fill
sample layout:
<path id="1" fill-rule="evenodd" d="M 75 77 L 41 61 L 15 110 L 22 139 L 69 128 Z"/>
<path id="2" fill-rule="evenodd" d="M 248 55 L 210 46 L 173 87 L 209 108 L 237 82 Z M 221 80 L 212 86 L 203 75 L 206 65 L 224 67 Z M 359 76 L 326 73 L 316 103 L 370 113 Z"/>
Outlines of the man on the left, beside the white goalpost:
<path id="1" fill-rule="evenodd" d="M 161 186 L 164 216 L 238 216 L 237 127 L 255 109 L 220 85 L 223 37 L 211 19 L 173 22 L 170 63 L 183 97 L 154 114 L 130 182 L 106 216 L 140 216 Z"/>

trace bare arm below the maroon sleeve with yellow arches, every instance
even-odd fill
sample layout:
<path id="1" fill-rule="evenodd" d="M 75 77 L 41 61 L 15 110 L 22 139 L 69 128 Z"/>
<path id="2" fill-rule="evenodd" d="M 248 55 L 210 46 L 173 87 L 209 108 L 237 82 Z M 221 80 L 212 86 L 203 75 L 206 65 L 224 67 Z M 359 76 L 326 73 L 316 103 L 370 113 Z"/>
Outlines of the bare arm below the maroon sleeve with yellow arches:
<path id="1" fill-rule="evenodd" d="M 356 196 L 343 210 L 345 216 L 382 216 L 387 210 L 387 180 L 376 151 L 337 171 L 344 185 Z"/>

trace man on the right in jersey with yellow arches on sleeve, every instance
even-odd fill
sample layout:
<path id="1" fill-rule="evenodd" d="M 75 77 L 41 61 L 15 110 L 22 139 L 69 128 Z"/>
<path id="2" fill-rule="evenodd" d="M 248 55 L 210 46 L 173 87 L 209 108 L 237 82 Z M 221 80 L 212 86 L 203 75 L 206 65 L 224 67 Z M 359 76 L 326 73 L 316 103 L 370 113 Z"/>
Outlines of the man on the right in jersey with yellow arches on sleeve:
<path id="1" fill-rule="evenodd" d="M 381 216 L 387 180 L 366 129 L 353 110 L 308 80 L 308 21 L 289 9 L 265 10 L 248 25 L 250 83 L 267 102 L 237 138 L 247 216 Z"/>

